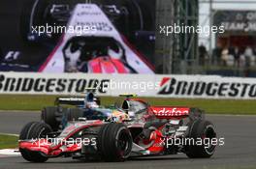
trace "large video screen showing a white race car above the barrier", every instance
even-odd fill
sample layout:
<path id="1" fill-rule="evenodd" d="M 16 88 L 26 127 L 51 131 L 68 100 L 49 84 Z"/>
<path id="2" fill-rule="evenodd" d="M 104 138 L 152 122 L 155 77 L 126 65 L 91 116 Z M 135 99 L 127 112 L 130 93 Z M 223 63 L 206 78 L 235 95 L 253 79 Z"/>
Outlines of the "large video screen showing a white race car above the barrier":
<path id="1" fill-rule="evenodd" d="M 1 1 L 0 70 L 154 73 L 150 1 Z"/>

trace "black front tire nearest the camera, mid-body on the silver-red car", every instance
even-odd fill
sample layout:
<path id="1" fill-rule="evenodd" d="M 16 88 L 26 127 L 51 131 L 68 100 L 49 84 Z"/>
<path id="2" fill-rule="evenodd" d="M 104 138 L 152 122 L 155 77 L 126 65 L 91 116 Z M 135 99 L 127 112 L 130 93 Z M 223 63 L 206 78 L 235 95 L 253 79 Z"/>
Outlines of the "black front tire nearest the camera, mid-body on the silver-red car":
<path id="1" fill-rule="evenodd" d="M 131 132 L 123 124 L 104 125 L 98 133 L 97 149 L 105 161 L 124 161 L 131 154 L 132 145 Z"/>

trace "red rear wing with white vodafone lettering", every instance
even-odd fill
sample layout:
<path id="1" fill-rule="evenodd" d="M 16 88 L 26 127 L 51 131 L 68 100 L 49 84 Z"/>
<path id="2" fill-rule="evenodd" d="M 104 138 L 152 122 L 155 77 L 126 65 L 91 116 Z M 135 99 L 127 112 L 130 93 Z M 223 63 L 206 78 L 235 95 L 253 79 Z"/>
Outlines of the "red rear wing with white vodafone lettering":
<path id="1" fill-rule="evenodd" d="M 186 116 L 189 114 L 187 107 L 152 107 L 152 110 L 158 117 Z"/>

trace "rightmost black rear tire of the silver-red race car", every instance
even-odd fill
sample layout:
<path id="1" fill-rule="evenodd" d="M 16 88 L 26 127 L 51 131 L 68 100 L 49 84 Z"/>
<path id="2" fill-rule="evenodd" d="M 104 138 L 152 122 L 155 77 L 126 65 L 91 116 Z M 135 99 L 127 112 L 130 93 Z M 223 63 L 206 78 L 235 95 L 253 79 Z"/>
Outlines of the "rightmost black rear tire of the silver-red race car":
<path id="1" fill-rule="evenodd" d="M 208 158 L 215 152 L 216 145 L 210 143 L 212 139 L 216 139 L 215 127 L 209 121 L 196 120 L 189 125 L 189 135 L 188 138 L 193 138 L 195 140 L 202 139 L 201 145 L 186 145 L 185 153 L 190 158 Z M 208 143 L 206 142 L 208 139 Z M 206 140 L 206 141 L 205 141 Z M 206 143 L 206 144 L 205 144 Z"/>

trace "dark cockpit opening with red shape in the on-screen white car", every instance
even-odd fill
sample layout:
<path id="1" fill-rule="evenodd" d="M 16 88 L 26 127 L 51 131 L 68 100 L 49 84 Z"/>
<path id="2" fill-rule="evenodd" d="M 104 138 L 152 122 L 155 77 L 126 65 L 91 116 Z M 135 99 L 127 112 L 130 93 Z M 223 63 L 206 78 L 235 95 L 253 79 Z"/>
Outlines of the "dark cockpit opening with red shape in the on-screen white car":
<path id="1" fill-rule="evenodd" d="M 63 48 L 65 72 L 136 73 L 125 49 L 110 37 L 75 37 Z"/>

